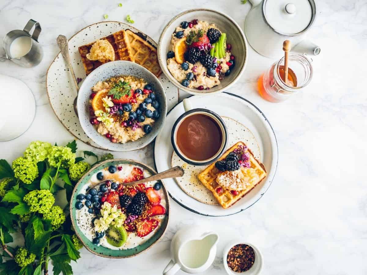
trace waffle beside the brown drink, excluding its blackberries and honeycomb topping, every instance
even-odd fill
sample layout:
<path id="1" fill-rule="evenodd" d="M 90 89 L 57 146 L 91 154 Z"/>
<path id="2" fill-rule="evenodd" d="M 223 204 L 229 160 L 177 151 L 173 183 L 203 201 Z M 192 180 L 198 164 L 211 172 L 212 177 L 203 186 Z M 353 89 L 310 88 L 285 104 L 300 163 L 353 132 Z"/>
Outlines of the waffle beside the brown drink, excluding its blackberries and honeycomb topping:
<path id="1" fill-rule="evenodd" d="M 244 144 L 243 142 L 237 142 L 235 145 L 233 145 L 231 148 L 225 151 L 225 153 L 222 155 L 221 158 L 218 159 L 218 161 L 224 160 L 226 156 L 230 152 L 235 150 L 239 145 L 245 146 L 246 144 Z M 213 193 L 214 197 L 218 200 L 219 204 L 223 208 L 228 208 L 234 203 L 236 203 L 240 198 L 242 198 L 244 195 L 250 192 L 255 186 L 257 186 L 257 184 L 259 184 L 266 176 L 266 170 L 264 164 L 262 164 L 261 162 L 259 162 L 257 159 L 254 158 L 254 154 L 252 154 L 250 149 L 248 149 L 248 152 L 250 153 L 251 168 L 256 169 L 256 173 L 259 175 L 259 180 L 256 183 L 248 186 L 245 190 L 237 191 L 238 192 L 237 195 L 233 195 L 232 192 L 226 188 L 222 188 L 223 192 L 221 192 L 221 194 L 218 194 L 217 191 L 215 191 L 218 187 L 220 187 L 218 183 L 215 181 L 220 171 L 217 168 L 215 168 L 214 163 L 209 165 L 203 172 L 201 172 L 198 175 L 198 178 L 201 181 L 201 183 L 204 184 L 204 186 Z M 241 170 L 242 169 L 246 168 L 241 168 Z"/>

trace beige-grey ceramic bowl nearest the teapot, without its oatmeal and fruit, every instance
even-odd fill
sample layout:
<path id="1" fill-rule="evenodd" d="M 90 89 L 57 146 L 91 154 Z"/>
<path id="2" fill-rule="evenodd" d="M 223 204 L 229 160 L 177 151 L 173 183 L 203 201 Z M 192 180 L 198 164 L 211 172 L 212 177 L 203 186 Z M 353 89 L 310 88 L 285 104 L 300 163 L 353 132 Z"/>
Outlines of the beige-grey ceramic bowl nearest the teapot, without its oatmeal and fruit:
<path id="1" fill-rule="evenodd" d="M 231 52 L 235 56 L 235 67 L 229 76 L 226 76 L 224 80 L 221 80 L 221 84 L 212 87 L 209 90 L 198 90 L 193 88 L 184 87 L 179 83 L 170 73 L 167 68 L 167 52 L 171 42 L 172 33 L 174 33 L 177 26 L 181 24 L 182 21 L 192 21 L 193 19 L 198 19 L 201 21 L 207 21 L 209 23 L 214 23 L 221 32 L 227 34 L 227 43 L 232 45 Z M 227 90 L 232 86 L 241 76 L 245 67 L 247 60 L 247 41 L 240 28 L 240 26 L 228 15 L 208 9 L 195 9 L 187 10 L 181 12 L 171 19 L 170 22 L 164 27 L 163 32 L 158 41 L 158 60 L 161 69 L 167 78 L 173 83 L 177 88 L 188 92 L 193 95 L 209 95 Z"/>

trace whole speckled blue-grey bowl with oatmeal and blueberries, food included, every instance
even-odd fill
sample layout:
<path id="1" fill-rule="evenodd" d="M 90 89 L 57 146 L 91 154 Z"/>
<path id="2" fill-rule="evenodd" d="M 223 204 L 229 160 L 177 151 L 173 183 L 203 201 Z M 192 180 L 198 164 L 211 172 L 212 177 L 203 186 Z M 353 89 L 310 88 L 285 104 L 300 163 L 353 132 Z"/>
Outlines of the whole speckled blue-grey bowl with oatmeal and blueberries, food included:
<path id="1" fill-rule="evenodd" d="M 130 61 L 105 63 L 90 73 L 78 93 L 84 132 L 111 151 L 132 151 L 152 142 L 167 114 L 158 78 Z"/>

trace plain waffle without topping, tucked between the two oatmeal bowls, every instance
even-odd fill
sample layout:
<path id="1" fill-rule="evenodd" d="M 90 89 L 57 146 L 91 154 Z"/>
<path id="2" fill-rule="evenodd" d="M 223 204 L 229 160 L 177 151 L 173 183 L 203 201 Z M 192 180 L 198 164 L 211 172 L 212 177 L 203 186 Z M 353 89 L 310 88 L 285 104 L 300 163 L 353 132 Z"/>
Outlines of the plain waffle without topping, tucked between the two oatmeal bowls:
<path id="1" fill-rule="evenodd" d="M 158 63 L 157 49 L 129 29 L 126 30 L 126 36 L 134 62 L 159 77 L 162 70 Z"/>

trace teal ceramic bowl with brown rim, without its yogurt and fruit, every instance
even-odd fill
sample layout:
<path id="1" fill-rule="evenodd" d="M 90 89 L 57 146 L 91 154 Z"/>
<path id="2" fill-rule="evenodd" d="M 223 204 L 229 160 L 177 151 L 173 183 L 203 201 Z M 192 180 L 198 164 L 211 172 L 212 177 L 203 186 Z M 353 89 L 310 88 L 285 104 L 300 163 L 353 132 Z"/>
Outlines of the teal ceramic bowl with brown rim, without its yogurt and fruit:
<path id="1" fill-rule="evenodd" d="M 92 241 L 90 241 L 84 234 L 83 232 L 81 232 L 79 226 L 77 225 L 77 220 L 76 220 L 76 208 L 75 208 L 75 203 L 77 201 L 76 196 L 77 194 L 83 190 L 85 184 L 88 183 L 88 180 L 91 178 L 92 175 L 94 175 L 95 173 L 97 173 L 99 170 L 106 168 L 110 165 L 119 165 L 119 164 L 132 164 L 132 165 L 138 165 L 141 166 L 142 168 L 146 169 L 148 172 L 152 173 L 152 175 L 156 174 L 157 172 L 151 168 L 148 165 L 145 165 L 141 162 L 138 161 L 134 161 L 132 159 L 108 159 L 106 161 L 101 162 L 98 165 L 93 166 L 76 184 L 74 190 L 73 190 L 73 194 L 71 196 L 70 199 L 70 217 L 71 217 L 71 221 L 75 230 L 76 235 L 79 237 L 79 239 L 81 240 L 81 242 L 83 243 L 84 247 L 86 247 L 87 250 L 89 250 L 91 253 L 96 254 L 98 256 L 101 257 L 106 257 L 106 258 L 130 258 L 130 257 L 134 257 L 140 253 L 142 253 L 145 250 L 148 250 L 150 247 L 152 247 L 156 242 L 158 242 L 160 240 L 160 238 L 162 238 L 162 236 L 164 235 L 164 233 L 166 232 L 167 229 L 167 225 L 168 225 L 168 219 L 169 219 L 169 214 L 170 214 L 170 204 L 168 201 L 168 194 L 167 194 L 167 190 L 166 187 L 164 186 L 163 182 L 159 180 L 162 188 L 163 188 L 163 192 L 164 195 L 166 196 L 166 201 L 167 201 L 167 212 L 166 212 L 166 216 L 164 217 L 164 219 L 161 222 L 161 226 L 160 228 L 155 232 L 155 234 L 148 239 L 147 241 L 145 241 L 143 244 L 138 245 L 137 247 L 131 248 L 131 249 L 125 249 L 125 250 L 112 250 L 112 249 L 108 249 L 106 247 L 103 246 L 97 246 L 94 245 L 92 243 Z"/>

